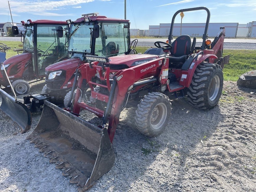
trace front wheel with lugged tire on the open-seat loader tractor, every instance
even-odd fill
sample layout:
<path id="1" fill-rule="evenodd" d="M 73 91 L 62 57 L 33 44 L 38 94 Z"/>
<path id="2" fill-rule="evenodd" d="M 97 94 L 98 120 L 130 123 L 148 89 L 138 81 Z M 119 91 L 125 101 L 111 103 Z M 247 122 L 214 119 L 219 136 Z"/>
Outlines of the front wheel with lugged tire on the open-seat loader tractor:
<path id="1" fill-rule="evenodd" d="M 162 133 L 171 116 L 171 100 L 158 92 L 148 93 L 135 111 L 135 124 L 144 135 L 155 137 Z"/>

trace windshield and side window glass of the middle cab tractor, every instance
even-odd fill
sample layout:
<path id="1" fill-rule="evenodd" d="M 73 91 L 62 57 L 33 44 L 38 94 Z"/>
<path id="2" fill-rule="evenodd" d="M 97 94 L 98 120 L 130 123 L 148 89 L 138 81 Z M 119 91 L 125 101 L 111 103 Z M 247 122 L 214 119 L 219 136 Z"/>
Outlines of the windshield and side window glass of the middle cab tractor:
<path id="1" fill-rule="evenodd" d="M 100 36 L 95 40 L 95 53 L 91 52 L 93 24 L 80 23 L 70 26 L 69 52 L 87 52 L 98 56 L 115 56 L 128 51 L 130 37 L 128 23 L 99 22 Z M 77 54 L 72 54 L 77 56 Z"/>

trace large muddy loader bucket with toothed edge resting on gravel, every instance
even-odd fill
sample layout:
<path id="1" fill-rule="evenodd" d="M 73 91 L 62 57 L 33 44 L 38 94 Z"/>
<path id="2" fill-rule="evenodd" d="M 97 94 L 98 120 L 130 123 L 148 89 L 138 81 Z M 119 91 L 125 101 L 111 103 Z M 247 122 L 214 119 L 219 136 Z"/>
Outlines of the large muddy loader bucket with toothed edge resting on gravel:
<path id="1" fill-rule="evenodd" d="M 70 183 L 86 191 L 108 172 L 115 154 L 106 128 L 99 128 L 44 101 L 43 112 L 35 130 L 27 137 L 44 156 L 50 158 Z"/>

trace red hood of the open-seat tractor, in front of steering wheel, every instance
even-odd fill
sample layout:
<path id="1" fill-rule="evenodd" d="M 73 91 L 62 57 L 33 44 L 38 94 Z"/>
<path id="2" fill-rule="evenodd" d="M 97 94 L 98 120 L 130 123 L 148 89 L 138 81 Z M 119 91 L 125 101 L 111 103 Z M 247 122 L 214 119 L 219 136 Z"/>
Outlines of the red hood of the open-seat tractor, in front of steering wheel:
<path id="1" fill-rule="evenodd" d="M 131 55 L 120 55 L 115 57 L 109 57 L 110 64 L 126 64 L 128 67 L 133 67 L 142 63 L 152 61 L 159 58 L 158 55 L 150 54 L 131 54 Z"/>

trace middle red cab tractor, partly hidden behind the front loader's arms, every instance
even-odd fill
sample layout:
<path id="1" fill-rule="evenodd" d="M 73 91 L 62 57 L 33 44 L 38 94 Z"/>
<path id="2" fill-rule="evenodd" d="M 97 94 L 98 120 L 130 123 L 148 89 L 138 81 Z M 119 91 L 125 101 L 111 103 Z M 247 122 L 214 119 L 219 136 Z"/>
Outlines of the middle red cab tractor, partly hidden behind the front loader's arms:
<path id="1" fill-rule="evenodd" d="M 98 16 L 98 13 L 84 14 L 76 21 L 67 20 L 70 25 L 68 39 L 68 60 L 57 62 L 45 68 L 46 85 L 42 94 L 49 94 L 57 100 L 70 98 L 75 69 L 85 63 L 85 55 L 112 57 L 136 52 L 130 47 L 129 20 Z M 136 39 L 137 40 L 137 39 Z"/>

